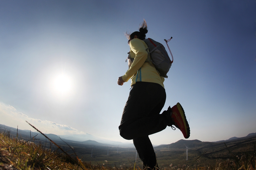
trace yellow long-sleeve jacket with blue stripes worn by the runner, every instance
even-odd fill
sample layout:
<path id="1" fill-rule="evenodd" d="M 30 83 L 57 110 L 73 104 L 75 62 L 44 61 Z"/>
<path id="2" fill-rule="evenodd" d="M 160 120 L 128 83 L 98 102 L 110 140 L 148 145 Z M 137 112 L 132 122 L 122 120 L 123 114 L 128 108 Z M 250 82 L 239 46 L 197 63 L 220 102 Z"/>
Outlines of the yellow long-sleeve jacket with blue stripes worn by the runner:
<path id="1" fill-rule="evenodd" d="M 138 81 L 143 81 L 158 83 L 164 87 L 164 78 L 160 77 L 152 62 L 147 60 L 147 48 L 147 44 L 138 38 L 130 41 L 130 57 L 134 58 L 134 61 L 122 78 L 125 82 L 131 78 L 131 85 L 134 85 Z"/>

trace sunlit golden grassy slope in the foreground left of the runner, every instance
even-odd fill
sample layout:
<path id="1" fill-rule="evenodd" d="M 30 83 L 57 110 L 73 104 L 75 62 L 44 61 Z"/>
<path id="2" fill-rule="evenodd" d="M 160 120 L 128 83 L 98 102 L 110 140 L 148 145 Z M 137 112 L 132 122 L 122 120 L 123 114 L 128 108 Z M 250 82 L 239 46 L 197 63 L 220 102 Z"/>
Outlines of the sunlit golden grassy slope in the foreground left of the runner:
<path id="1" fill-rule="evenodd" d="M 68 152 L 72 149 L 70 147 Z M 17 137 L 10 137 L 9 131 L 0 132 L 0 170 L 16 169 L 132 170 L 133 165 L 122 165 L 117 168 L 111 166 L 107 160 L 103 164 L 92 164 L 91 162 L 81 161 L 74 152 L 67 155 L 67 152 L 63 153 L 60 148 L 52 151 L 51 147 L 48 149 L 37 140 L 25 141 Z"/>

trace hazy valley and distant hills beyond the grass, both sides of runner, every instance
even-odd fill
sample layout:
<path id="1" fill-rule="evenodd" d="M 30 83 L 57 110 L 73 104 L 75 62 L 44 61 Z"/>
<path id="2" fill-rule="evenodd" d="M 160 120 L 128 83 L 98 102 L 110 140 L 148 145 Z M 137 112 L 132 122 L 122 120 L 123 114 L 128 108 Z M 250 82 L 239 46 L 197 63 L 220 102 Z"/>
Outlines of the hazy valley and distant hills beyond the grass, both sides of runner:
<path id="1" fill-rule="evenodd" d="M 17 135 L 17 129 L 10 128 L 10 134 L 14 138 Z M 31 134 L 31 136 L 30 136 Z M 57 135 L 47 134 L 47 136 L 56 142 L 68 154 L 74 154 L 70 147 L 74 148 L 77 156 L 83 161 L 90 161 L 95 164 L 103 164 L 105 160 L 110 165 L 132 165 L 135 162 L 136 150 L 132 147 L 117 147 L 107 144 L 98 143 L 96 141 L 88 140 L 83 142 L 72 141 L 67 139 L 60 139 Z M 18 138 L 26 141 L 40 142 L 46 147 L 52 147 L 56 150 L 57 147 L 52 145 L 46 138 L 40 134 L 30 131 L 23 131 L 18 129 Z M 157 160 L 160 167 L 167 167 L 170 164 L 183 165 L 194 164 L 200 161 L 201 165 L 208 163 L 216 164 L 216 161 L 222 159 L 234 159 L 244 153 L 252 154 L 255 152 L 256 135 L 249 134 L 246 137 L 232 138 L 224 142 L 202 142 L 199 140 L 179 140 L 168 145 L 160 145 L 154 147 Z M 188 160 L 186 160 L 186 146 L 188 146 Z M 92 149 L 93 148 L 93 149 Z M 198 159 L 199 158 L 199 159 Z M 137 165 L 141 165 L 141 161 L 137 155 Z"/>

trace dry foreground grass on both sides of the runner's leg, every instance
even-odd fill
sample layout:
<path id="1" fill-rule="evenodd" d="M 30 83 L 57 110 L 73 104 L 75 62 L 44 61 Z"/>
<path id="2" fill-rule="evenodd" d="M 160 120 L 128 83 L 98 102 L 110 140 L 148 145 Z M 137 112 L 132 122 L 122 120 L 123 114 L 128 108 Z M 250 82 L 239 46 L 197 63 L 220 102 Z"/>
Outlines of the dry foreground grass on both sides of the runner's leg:
<path id="1" fill-rule="evenodd" d="M 50 140 L 50 139 L 48 139 Z M 53 144 L 53 143 L 51 143 Z M 10 137 L 9 131 L 0 133 L 0 170 L 141 170 L 137 165 L 112 166 L 106 160 L 103 164 L 92 164 L 81 161 L 76 153 L 67 154 L 57 145 L 52 151 L 45 148 L 41 142 L 31 139 L 28 141 L 16 137 Z M 72 151 L 72 147 L 70 147 Z M 242 155 L 232 155 L 232 159 L 216 159 L 214 164 L 202 164 L 200 157 L 190 165 L 168 165 L 161 170 L 256 170 L 256 151 L 246 152 Z M 137 158 L 138 159 L 138 158 Z M 159 165 L 161 166 L 161 165 Z"/>

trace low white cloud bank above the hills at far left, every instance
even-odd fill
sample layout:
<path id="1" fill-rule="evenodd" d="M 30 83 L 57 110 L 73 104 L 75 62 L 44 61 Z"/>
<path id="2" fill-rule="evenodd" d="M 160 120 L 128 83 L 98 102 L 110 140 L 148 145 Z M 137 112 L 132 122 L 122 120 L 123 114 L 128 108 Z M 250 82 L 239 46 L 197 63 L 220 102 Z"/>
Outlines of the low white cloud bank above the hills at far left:
<path id="1" fill-rule="evenodd" d="M 26 122 L 28 121 L 30 124 L 44 133 L 53 133 L 56 135 L 84 134 L 84 132 L 79 132 L 77 129 L 74 129 L 68 125 L 28 117 L 27 115 L 18 112 L 14 107 L 6 105 L 2 102 L 0 102 L 0 117 L 0 124 L 11 127 L 16 127 L 18 125 L 19 129 L 35 131 L 35 129 Z"/>

